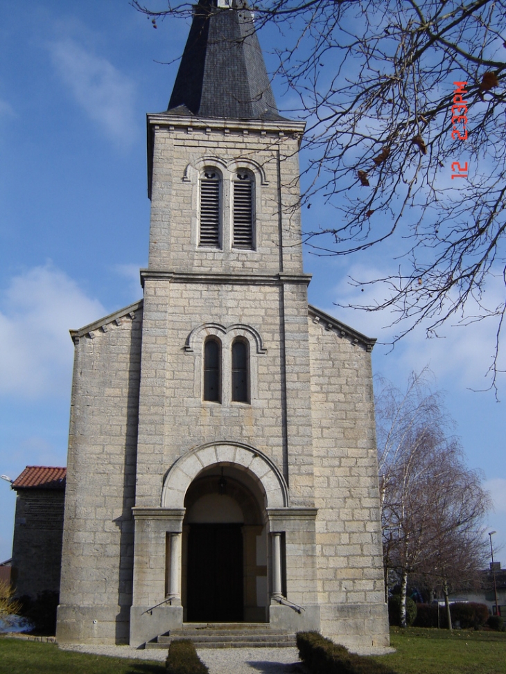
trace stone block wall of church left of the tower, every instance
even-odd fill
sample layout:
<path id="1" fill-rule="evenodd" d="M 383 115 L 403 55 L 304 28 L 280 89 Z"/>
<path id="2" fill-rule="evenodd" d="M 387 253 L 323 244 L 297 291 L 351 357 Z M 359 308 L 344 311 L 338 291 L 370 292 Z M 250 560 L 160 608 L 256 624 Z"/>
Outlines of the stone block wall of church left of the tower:
<path id="1" fill-rule="evenodd" d="M 61 642 L 127 643 L 142 304 L 72 333 Z"/>

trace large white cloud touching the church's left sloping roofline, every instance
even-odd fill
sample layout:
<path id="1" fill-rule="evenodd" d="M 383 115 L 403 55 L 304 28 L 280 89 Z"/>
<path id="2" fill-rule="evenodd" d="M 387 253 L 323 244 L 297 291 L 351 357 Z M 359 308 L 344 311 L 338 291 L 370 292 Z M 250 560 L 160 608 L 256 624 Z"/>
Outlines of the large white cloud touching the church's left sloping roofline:
<path id="1" fill-rule="evenodd" d="M 12 278 L 1 293 L 0 395 L 68 395 L 73 345 L 69 328 L 107 314 L 69 276 L 46 265 Z"/>

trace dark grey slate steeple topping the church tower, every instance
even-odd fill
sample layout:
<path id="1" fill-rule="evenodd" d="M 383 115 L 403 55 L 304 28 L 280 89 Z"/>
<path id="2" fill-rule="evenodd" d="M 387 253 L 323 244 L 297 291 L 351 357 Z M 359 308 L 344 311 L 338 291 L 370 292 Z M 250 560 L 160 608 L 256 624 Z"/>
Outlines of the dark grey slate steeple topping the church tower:
<path id="1" fill-rule="evenodd" d="M 251 12 L 200 0 L 167 112 L 198 117 L 282 119 Z"/>

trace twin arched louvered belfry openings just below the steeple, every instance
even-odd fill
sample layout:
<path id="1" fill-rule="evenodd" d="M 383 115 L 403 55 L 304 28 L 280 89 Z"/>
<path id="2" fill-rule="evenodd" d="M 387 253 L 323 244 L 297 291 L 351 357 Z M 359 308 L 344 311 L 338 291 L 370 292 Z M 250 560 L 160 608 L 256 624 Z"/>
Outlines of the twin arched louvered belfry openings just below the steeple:
<path id="1" fill-rule="evenodd" d="M 223 248 L 223 180 L 213 168 L 200 177 L 199 247 Z M 238 170 L 232 180 L 232 248 L 254 249 L 254 177 Z"/>

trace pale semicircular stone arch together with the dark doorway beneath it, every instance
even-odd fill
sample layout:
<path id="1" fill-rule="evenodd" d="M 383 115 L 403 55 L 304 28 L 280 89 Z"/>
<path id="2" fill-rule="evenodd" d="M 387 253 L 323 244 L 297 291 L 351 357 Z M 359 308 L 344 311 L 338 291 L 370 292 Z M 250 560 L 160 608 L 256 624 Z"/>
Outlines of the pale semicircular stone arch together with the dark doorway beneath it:
<path id="1" fill-rule="evenodd" d="M 218 484 L 223 472 L 226 493 Z M 162 508 L 185 512 L 181 559 L 185 620 L 268 619 L 267 508 L 287 506 L 288 488 L 281 473 L 249 445 L 209 443 L 174 463 L 164 481 Z M 229 549 L 225 557 L 224 548 Z"/>

